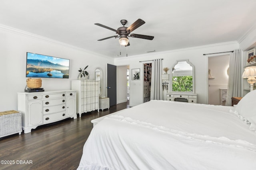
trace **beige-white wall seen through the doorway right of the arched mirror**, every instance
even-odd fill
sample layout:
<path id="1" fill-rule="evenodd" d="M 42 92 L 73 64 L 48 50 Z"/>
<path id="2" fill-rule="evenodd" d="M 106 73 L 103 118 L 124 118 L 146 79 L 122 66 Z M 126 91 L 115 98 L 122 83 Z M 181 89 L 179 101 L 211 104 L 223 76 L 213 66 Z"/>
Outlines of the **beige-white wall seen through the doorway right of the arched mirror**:
<path id="1" fill-rule="evenodd" d="M 220 105 L 220 88 L 228 88 L 229 55 L 208 58 L 208 69 L 214 79 L 208 80 L 208 104 Z"/>

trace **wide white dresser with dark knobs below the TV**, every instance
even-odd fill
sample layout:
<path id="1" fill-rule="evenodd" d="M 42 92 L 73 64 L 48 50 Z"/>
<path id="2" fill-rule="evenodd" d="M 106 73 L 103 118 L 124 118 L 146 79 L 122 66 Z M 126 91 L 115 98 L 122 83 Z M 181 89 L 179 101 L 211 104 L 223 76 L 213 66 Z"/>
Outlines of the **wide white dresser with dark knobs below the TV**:
<path id="1" fill-rule="evenodd" d="M 18 111 L 22 113 L 22 129 L 30 133 L 39 125 L 76 115 L 76 91 L 56 90 L 18 93 Z"/>

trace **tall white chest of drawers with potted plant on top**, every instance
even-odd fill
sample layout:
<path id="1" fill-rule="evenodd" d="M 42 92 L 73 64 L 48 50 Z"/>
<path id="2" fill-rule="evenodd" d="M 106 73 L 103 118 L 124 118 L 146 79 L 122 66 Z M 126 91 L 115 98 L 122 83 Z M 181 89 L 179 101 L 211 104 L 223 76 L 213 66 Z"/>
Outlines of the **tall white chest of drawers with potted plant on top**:
<path id="1" fill-rule="evenodd" d="M 76 90 L 76 109 L 79 117 L 82 113 L 99 111 L 99 81 L 72 80 L 71 89 Z"/>

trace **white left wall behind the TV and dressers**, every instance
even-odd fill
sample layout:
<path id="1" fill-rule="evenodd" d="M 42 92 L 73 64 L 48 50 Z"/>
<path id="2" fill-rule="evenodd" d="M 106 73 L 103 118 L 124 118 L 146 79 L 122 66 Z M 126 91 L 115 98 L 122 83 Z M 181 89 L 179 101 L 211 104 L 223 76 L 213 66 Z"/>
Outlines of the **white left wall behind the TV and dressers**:
<path id="1" fill-rule="evenodd" d="M 24 92 L 26 86 L 26 52 L 70 59 L 69 78 L 42 78 L 45 91 L 71 89 L 71 80 L 76 80 L 79 68 L 86 65 L 91 79 L 95 68 L 101 67 L 106 84 L 106 63 L 114 63 L 108 57 L 16 29 L 0 27 L 0 37 L 0 111 L 17 109 L 17 92 Z M 102 96 L 106 96 L 105 88 Z"/>

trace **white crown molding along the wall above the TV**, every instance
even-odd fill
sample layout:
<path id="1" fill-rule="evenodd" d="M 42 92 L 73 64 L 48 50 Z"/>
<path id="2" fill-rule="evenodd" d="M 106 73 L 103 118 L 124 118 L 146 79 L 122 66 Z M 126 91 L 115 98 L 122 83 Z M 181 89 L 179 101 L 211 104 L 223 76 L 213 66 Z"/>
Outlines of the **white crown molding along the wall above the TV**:
<path id="1" fill-rule="evenodd" d="M 57 45 L 62 45 L 64 47 L 69 47 L 69 48 L 72 48 L 72 49 L 84 51 L 84 52 L 91 53 L 91 54 L 94 54 L 94 55 L 97 55 L 97 56 L 100 56 L 100 57 L 104 57 L 104 58 L 108 58 L 108 59 L 113 59 L 113 58 L 108 57 L 106 55 L 95 53 L 93 51 L 88 51 L 86 49 L 83 49 L 83 48 L 80 48 L 80 47 L 76 47 L 74 45 L 69 45 L 69 44 L 66 44 L 66 43 L 62 43 L 62 42 L 56 41 L 54 39 L 46 38 L 46 37 L 43 37 L 43 36 L 40 36 L 40 35 L 36 35 L 36 34 L 30 33 L 30 32 L 27 32 L 27 31 L 22 31 L 20 29 L 16 29 L 16 28 L 9 27 L 9 26 L 6 26 L 6 25 L 0 24 L 0 30 L 7 31 L 7 32 L 10 32 L 10 33 L 16 33 L 16 34 L 19 34 L 19 35 L 24 35 L 26 37 L 30 37 L 30 38 L 34 38 L 34 39 L 50 42 L 50 43 L 55 43 Z"/>

